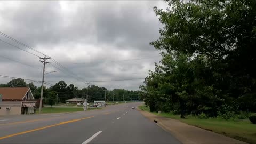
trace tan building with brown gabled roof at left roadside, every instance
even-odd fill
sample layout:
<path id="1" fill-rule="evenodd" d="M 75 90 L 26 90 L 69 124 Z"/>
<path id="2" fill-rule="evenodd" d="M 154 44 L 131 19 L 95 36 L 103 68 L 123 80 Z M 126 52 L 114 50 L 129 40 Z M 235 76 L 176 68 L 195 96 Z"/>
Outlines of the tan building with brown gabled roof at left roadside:
<path id="1" fill-rule="evenodd" d="M 36 101 L 29 87 L 0 88 L 0 115 L 35 114 Z"/>

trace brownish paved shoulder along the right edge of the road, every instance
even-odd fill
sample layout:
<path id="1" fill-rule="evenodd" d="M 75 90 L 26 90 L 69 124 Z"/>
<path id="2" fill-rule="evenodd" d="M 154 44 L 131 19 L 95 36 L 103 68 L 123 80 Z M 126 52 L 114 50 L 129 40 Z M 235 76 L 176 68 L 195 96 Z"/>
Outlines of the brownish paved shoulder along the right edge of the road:
<path id="1" fill-rule="evenodd" d="M 140 111 L 143 116 L 150 119 L 150 121 L 156 121 L 158 126 L 170 132 L 182 143 L 245 143 L 243 141 L 235 140 L 218 133 L 182 123 L 181 121 L 175 119 L 157 116 L 149 113 L 148 111 L 142 111 L 140 109 L 137 110 Z"/>

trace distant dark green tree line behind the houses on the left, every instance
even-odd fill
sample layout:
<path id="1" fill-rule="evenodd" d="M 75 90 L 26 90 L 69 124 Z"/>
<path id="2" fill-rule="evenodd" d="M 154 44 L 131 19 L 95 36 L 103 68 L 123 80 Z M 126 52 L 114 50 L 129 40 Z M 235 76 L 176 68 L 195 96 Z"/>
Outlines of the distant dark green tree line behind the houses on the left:
<path id="1" fill-rule="evenodd" d="M 29 87 L 34 95 L 35 99 L 39 99 L 41 96 L 41 86 L 35 86 L 34 83 L 26 83 L 24 79 L 12 79 L 7 84 L 0 84 L 0 87 Z M 94 100 L 106 100 L 107 101 L 131 101 L 131 96 L 133 94 L 133 101 L 136 100 L 138 94 L 138 100 L 141 99 L 139 91 L 131 91 L 124 89 L 114 89 L 108 90 L 105 87 L 98 87 L 95 85 L 88 86 L 88 101 L 93 102 Z M 65 81 L 59 81 L 50 87 L 45 87 L 43 89 L 44 102 L 50 105 L 54 103 L 65 103 L 65 100 L 71 98 L 83 98 L 86 99 L 86 87 L 78 89 L 74 84 L 67 85 Z"/>

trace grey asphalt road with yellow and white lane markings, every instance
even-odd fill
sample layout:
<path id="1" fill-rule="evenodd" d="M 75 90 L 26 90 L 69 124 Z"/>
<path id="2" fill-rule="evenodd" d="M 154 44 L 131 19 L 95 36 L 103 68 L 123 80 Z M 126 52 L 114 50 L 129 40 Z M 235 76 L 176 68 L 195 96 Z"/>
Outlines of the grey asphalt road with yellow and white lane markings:
<path id="1" fill-rule="evenodd" d="M 180 143 L 131 109 L 140 104 L 67 114 L 0 117 L 0 143 Z"/>

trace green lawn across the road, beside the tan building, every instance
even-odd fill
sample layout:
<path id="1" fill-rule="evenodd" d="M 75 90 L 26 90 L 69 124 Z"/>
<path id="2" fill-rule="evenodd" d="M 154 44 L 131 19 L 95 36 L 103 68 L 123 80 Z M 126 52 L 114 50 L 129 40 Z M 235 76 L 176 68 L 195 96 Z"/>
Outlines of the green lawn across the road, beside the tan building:
<path id="1" fill-rule="evenodd" d="M 102 109 L 102 108 L 89 108 L 88 110 L 94 109 Z M 38 114 L 39 108 L 36 109 L 36 114 Z M 43 107 L 41 114 L 48 114 L 48 113 L 68 113 L 68 112 L 75 112 L 75 111 L 84 111 L 82 107 L 76 108 L 51 108 L 51 107 Z"/>

